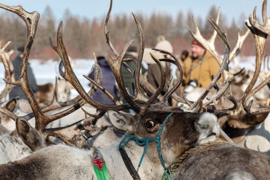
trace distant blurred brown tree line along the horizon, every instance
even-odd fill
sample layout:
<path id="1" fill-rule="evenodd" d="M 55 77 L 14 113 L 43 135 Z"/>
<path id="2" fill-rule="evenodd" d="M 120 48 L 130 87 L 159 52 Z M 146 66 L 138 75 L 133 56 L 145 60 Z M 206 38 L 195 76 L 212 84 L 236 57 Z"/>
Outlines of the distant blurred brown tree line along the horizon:
<path id="1" fill-rule="evenodd" d="M 212 6 L 208 10 L 208 16 L 213 19 L 216 18 L 217 7 Z M 189 50 L 192 36 L 189 33 L 189 28 L 193 29 L 191 20 L 192 12 L 187 14 L 179 11 L 176 18 L 171 15 L 163 13 L 152 13 L 150 16 L 143 16 L 136 14 L 143 32 L 145 35 L 145 47 L 153 48 L 157 43 L 157 36 L 164 35 L 174 47 L 174 54 L 180 54 L 183 50 Z M 213 28 L 208 20 L 203 21 L 201 17 L 195 17 L 196 22 L 201 30 L 201 33 L 209 38 L 213 32 Z M 233 20 L 228 20 L 226 14 L 220 13 L 220 27 L 228 34 L 228 39 L 231 48 L 234 48 L 237 40 L 237 29 L 240 26 L 243 34 L 247 27 L 244 25 L 244 20 L 248 19 L 248 15 L 241 15 Z M 93 52 L 98 55 L 104 55 L 108 48 L 104 35 L 103 18 L 81 18 L 72 15 L 70 10 L 66 10 L 63 15 L 63 39 L 65 47 L 69 56 L 75 58 L 92 58 Z M 230 22 L 230 23 L 228 23 Z M 31 58 L 59 59 L 49 44 L 49 36 L 55 41 L 56 30 L 59 22 L 56 22 L 54 13 L 50 6 L 47 6 L 45 11 L 41 13 L 37 33 L 31 51 Z M 24 45 L 26 41 L 26 27 L 24 22 L 9 12 L 2 12 L 0 14 L 0 40 L 3 42 L 12 41 L 10 49 L 16 49 Z M 110 39 L 114 47 L 121 51 L 124 44 L 130 40 L 135 39 L 135 44 L 138 45 L 136 36 L 135 21 L 131 14 L 118 14 L 109 20 Z M 266 53 L 270 52 L 270 42 L 267 42 Z M 216 49 L 219 53 L 223 53 L 224 44 L 219 38 L 216 40 Z M 241 50 L 241 55 L 254 55 L 255 45 L 253 37 L 250 34 Z"/>

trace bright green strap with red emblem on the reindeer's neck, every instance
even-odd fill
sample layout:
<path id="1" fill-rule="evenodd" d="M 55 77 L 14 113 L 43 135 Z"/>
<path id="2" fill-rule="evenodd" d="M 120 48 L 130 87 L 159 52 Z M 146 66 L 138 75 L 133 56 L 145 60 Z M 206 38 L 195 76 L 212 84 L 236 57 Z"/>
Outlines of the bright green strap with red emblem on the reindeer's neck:
<path id="1" fill-rule="evenodd" d="M 98 180 L 109 180 L 108 170 L 103 159 L 95 159 L 93 161 L 93 167 Z"/>

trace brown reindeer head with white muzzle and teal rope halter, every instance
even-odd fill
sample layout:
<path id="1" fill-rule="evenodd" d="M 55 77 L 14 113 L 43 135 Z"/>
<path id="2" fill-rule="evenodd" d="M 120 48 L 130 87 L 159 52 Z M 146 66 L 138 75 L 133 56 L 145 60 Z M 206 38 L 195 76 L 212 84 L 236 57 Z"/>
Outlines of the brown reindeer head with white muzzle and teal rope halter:
<path id="1" fill-rule="evenodd" d="M 143 116 L 109 110 L 108 117 L 115 128 L 140 139 L 151 139 L 158 135 L 163 121 L 170 113 L 160 137 L 165 165 L 173 163 L 190 148 L 216 141 L 216 136 L 219 136 L 219 125 L 214 114 L 184 112 L 180 108 L 166 107 L 164 103 L 151 105 Z M 149 144 L 147 154 L 150 158 L 158 158 L 155 143 Z"/>

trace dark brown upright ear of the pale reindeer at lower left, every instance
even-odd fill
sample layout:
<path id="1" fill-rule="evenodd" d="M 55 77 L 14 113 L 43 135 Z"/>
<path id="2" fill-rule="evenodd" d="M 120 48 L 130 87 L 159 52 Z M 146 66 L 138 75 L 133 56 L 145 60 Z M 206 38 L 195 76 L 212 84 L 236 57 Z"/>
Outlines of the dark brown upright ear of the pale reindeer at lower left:
<path id="1" fill-rule="evenodd" d="M 45 147 L 44 138 L 38 133 L 36 129 L 31 127 L 26 120 L 17 118 L 16 129 L 24 143 L 26 143 L 26 145 L 32 151 L 36 151 Z"/>

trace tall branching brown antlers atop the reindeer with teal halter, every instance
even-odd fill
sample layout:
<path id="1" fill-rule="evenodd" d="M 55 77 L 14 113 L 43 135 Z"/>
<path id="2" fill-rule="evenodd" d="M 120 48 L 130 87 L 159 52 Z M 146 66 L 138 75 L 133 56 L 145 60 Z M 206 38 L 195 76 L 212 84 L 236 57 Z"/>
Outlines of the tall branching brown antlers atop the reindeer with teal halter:
<path id="1" fill-rule="evenodd" d="M 112 3 L 112 1 L 111 1 Z M 143 49 L 144 49 L 144 38 L 143 38 L 143 33 L 142 33 L 142 29 L 140 24 L 137 21 L 136 16 L 134 15 L 135 18 L 135 22 L 137 25 L 137 28 L 139 30 L 139 37 L 140 37 L 140 51 L 139 51 L 139 57 L 138 60 L 136 61 L 136 70 L 135 70 L 135 89 L 136 89 L 136 96 L 135 99 L 132 99 L 132 97 L 129 95 L 129 93 L 127 92 L 126 88 L 125 88 L 125 84 L 124 84 L 124 80 L 122 77 L 122 72 L 121 72 L 121 67 L 122 64 L 125 61 L 130 61 L 130 59 L 125 58 L 126 57 L 126 51 L 128 50 L 129 46 L 133 43 L 134 40 L 129 41 L 128 43 L 126 43 L 126 45 L 124 46 L 123 50 L 120 52 L 120 54 L 117 53 L 117 51 L 113 48 L 112 44 L 109 41 L 109 37 L 108 37 L 108 19 L 109 19 L 109 13 L 111 10 L 111 4 L 110 4 L 110 8 L 108 11 L 108 15 L 106 18 L 106 25 L 105 25 L 105 33 L 106 33 L 106 37 L 107 37 L 107 43 L 109 45 L 110 48 L 108 48 L 107 51 L 107 61 L 108 64 L 112 70 L 112 73 L 116 79 L 116 82 L 118 84 L 119 90 L 122 93 L 123 97 L 125 98 L 125 100 L 127 101 L 128 104 L 120 104 L 117 103 L 119 105 L 103 105 L 100 104 L 98 102 L 95 102 L 94 100 L 91 99 L 91 97 L 89 97 L 87 95 L 87 93 L 84 91 L 84 89 L 81 86 L 81 83 L 79 82 L 78 78 L 76 77 L 76 75 L 74 74 L 69 60 L 68 60 L 68 55 L 67 52 L 65 50 L 64 44 L 63 44 L 63 40 L 62 40 L 62 23 L 60 23 L 60 25 L 58 26 L 58 31 L 57 31 L 57 46 L 54 46 L 54 44 L 51 42 L 51 46 L 52 48 L 59 54 L 59 56 L 61 57 L 61 62 L 59 65 L 59 72 L 60 75 L 62 77 L 64 77 L 65 79 L 67 79 L 72 85 L 73 87 L 78 91 L 78 93 L 81 95 L 81 97 L 89 104 L 93 105 L 94 107 L 102 110 L 102 111 L 107 111 L 108 109 L 115 109 L 115 110 L 123 110 L 123 109 L 128 109 L 128 108 L 132 108 L 133 110 L 135 110 L 135 112 L 137 112 L 138 114 L 143 114 L 145 112 L 145 110 L 151 105 L 151 103 L 153 103 L 156 98 L 159 96 L 159 94 L 161 93 L 162 89 L 164 88 L 165 85 L 165 72 L 162 68 L 162 64 L 161 62 L 153 56 L 153 54 L 151 54 L 152 58 L 154 59 L 154 61 L 156 61 L 156 63 L 158 64 L 160 71 L 161 71 L 161 75 L 162 75 L 162 82 L 159 86 L 159 88 L 157 89 L 157 91 L 149 98 L 147 99 L 147 97 L 145 95 L 143 95 L 143 93 L 140 91 L 140 87 L 139 87 L 139 70 L 141 67 L 141 61 L 142 61 L 142 55 L 143 55 Z M 110 55 L 110 51 L 112 50 L 112 52 L 114 53 L 114 55 L 116 56 L 116 59 L 113 59 Z M 62 71 L 63 66 L 65 67 L 65 71 Z M 89 79 L 89 78 L 88 78 Z M 100 88 L 102 91 L 106 92 L 105 89 L 100 86 L 98 83 L 95 83 L 93 80 L 89 79 L 91 82 L 93 82 L 98 88 Z M 111 98 L 111 96 L 108 94 L 108 92 L 106 92 L 106 94 L 108 95 L 109 98 Z M 135 100 L 139 103 L 144 103 L 142 106 L 140 106 L 138 103 L 135 102 Z M 115 101 L 113 101 L 115 102 Z"/>

